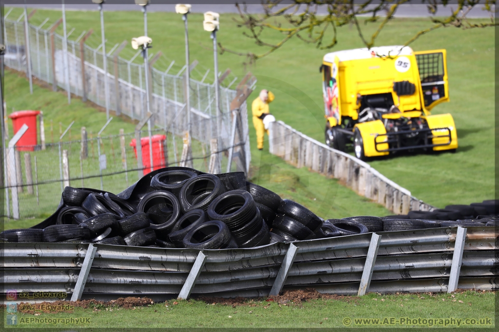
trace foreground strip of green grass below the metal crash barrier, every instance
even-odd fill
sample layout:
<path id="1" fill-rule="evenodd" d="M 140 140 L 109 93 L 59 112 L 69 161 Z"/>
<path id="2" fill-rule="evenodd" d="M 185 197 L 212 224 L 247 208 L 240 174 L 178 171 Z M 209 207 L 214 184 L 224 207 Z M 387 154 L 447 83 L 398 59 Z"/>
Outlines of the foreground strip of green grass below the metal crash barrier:
<path id="1" fill-rule="evenodd" d="M 78 327 L 89 328 L 344 328 L 343 321 L 352 321 L 347 327 L 364 328 L 406 328 L 427 327 L 395 323 L 394 325 L 361 325 L 355 319 L 400 318 L 414 319 L 489 319 L 491 325 L 466 326 L 461 328 L 493 328 L 494 327 L 494 293 L 467 291 L 454 295 L 449 294 L 400 294 L 379 295 L 369 293 L 362 298 L 344 297 L 341 299 L 311 300 L 302 306 L 287 303 L 279 305 L 275 302 L 249 301 L 245 305 L 209 304 L 199 300 L 179 301 L 173 305 L 168 301 L 148 307 L 135 309 L 108 308 L 75 308 L 74 313 L 18 314 L 21 318 L 79 318 L 89 317 L 90 324 Z M 424 299 L 421 299 L 423 297 Z M 445 301 L 443 301 L 445 300 Z M 452 302 L 456 300 L 456 302 Z M 460 303 L 462 301 L 463 303 Z M 389 321 L 388 321 L 389 322 Z M 7 328 L 9 326 L 5 326 Z M 17 328 L 75 328 L 76 326 L 58 324 L 24 324 Z M 444 327 L 444 326 L 434 326 Z M 448 328 L 457 328 L 449 325 Z"/>

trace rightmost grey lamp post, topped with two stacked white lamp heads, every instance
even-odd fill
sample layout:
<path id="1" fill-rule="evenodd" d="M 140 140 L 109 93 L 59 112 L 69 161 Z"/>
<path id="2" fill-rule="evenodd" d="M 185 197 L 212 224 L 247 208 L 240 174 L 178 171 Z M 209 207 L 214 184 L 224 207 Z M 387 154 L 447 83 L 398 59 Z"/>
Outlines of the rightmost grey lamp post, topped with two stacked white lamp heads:
<path id="1" fill-rule="evenodd" d="M 214 59 L 214 69 L 215 69 L 215 109 L 217 114 L 217 150 L 218 153 L 218 164 L 221 164 L 221 129 L 222 129 L 222 117 L 220 114 L 220 91 L 219 91 L 219 80 L 218 80 L 218 53 L 217 53 L 217 30 L 220 28 L 219 22 L 220 15 L 213 11 L 205 12 L 205 20 L 203 21 L 203 28 L 205 31 L 211 32 L 211 37 L 213 39 L 213 59 Z M 217 167 L 220 169 L 220 167 Z"/>

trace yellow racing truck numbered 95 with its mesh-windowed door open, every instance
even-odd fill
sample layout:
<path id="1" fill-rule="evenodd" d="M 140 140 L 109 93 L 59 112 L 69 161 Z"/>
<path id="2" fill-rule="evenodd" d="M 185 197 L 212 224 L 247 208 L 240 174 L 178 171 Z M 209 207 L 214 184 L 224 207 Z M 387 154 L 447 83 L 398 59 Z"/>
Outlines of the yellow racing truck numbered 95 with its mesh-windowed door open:
<path id="1" fill-rule="evenodd" d="M 332 52 L 324 55 L 320 72 L 328 146 L 353 147 L 361 160 L 401 151 L 456 151 L 452 115 L 430 115 L 449 101 L 445 49 Z"/>

